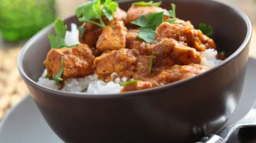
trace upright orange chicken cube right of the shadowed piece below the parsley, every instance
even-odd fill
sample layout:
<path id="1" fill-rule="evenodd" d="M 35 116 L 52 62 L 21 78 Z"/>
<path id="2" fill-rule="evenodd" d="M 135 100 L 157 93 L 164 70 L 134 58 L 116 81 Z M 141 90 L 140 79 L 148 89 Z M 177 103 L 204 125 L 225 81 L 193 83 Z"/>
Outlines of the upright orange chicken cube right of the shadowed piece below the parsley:
<path id="1" fill-rule="evenodd" d="M 112 21 L 102 30 L 97 40 L 97 50 L 119 50 L 125 47 L 125 35 L 127 28 L 123 21 Z"/>

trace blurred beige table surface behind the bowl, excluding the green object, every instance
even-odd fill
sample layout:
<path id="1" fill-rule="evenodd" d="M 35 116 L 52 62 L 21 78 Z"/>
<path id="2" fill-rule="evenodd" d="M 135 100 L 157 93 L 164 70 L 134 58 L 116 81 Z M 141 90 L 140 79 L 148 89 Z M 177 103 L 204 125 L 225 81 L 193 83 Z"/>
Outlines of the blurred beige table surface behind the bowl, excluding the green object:
<path id="1" fill-rule="evenodd" d="M 72 16 L 75 8 L 85 1 L 57 0 L 58 16 L 61 18 Z M 256 0 L 225 0 L 224 2 L 240 8 L 252 21 L 253 34 L 250 43 L 250 56 L 256 57 Z M 26 40 L 9 43 L 0 38 L 0 120 L 9 108 L 16 105 L 28 94 L 16 68 L 18 54 L 25 42 Z"/>

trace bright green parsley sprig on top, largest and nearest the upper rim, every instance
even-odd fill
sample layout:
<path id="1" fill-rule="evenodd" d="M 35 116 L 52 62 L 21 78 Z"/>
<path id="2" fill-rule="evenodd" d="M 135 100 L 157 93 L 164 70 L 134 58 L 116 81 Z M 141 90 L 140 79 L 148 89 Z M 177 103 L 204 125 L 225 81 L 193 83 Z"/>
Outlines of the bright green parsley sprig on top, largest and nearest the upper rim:
<path id="1" fill-rule="evenodd" d="M 100 3 L 100 0 L 93 0 L 79 6 L 75 11 L 78 18 L 82 16 L 82 18 L 79 18 L 79 21 L 89 22 L 105 28 L 106 25 L 102 19 L 102 15 L 104 14 L 109 21 L 112 21 L 112 15 L 115 11 L 117 11 L 118 4 L 112 0 L 106 0 L 102 5 Z M 95 20 L 99 20 L 99 22 Z"/>

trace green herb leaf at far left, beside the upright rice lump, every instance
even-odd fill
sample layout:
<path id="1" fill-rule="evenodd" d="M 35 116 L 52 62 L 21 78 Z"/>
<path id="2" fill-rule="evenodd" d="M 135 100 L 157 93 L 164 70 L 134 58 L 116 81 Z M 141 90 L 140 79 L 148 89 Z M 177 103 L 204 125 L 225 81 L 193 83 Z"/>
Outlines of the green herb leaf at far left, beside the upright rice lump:
<path id="1" fill-rule="evenodd" d="M 65 33 L 67 30 L 67 25 L 64 24 L 64 21 L 60 18 L 55 20 L 54 25 L 55 36 L 48 34 L 48 39 L 50 40 L 50 47 L 52 48 L 61 48 L 65 45 Z"/>

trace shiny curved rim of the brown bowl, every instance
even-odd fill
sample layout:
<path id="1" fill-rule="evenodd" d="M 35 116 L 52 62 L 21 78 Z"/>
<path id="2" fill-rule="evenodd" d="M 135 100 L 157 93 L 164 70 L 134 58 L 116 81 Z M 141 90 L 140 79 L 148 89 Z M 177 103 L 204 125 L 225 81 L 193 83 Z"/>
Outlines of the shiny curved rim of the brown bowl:
<path id="1" fill-rule="evenodd" d="M 235 11 L 235 13 L 237 13 L 238 16 L 240 16 L 240 18 L 242 18 L 242 20 L 245 22 L 245 24 L 247 26 L 247 33 L 246 33 L 245 39 L 243 40 L 242 44 L 240 45 L 240 47 L 238 47 L 237 50 L 235 50 L 235 52 L 233 52 L 233 54 L 231 54 L 228 58 L 223 60 L 223 62 L 220 62 L 220 64 L 216 65 L 215 67 L 213 67 L 213 68 L 209 69 L 208 71 L 205 71 L 201 74 L 193 76 L 191 78 L 183 79 L 181 81 L 175 81 L 174 83 L 166 84 L 164 86 L 157 86 L 154 88 L 147 88 L 147 89 L 142 89 L 142 90 L 138 90 L 138 91 L 129 91 L 129 92 L 124 92 L 124 93 L 97 94 L 97 95 L 88 94 L 88 93 L 71 93 L 71 92 L 65 92 L 65 91 L 58 91 L 58 90 L 51 89 L 51 88 L 48 88 L 45 86 L 41 86 L 36 81 L 33 81 L 31 78 L 28 77 L 28 75 L 25 73 L 25 71 L 23 69 L 22 62 L 23 62 L 23 57 L 24 57 L 26 51 L 29 49 L 29 47 L 31 47 L 31 44 L 34 42 L 34 40 L 40 38 L 41 33 L 52 28 L 53 23 L 48 25 L 46 28 L 43 28 L 42 30 L 40 30 L 38 33 L 36 33 L 36 35 L 34 35 L 30 40 L 28 40 L 28 42 L 26 42 L 26 44 L 23 46 L 20 54 L 18 55 L 18 62 L 17 62 L 18 71 L 21 74 L 21 77 L 23 78 L 23 80 L 27 81 L 26 82 L 27 84 L 30 84 L 31 86 L 36 86 L 36 88 L 40 88 L 41 90 L 46 91 L 46 93 L 52 93 L 53 95 L 66 96 L 66 97 L 71 97 L 71 98 L 119 98 L 119 97 L 125 97 L 125 96 L 135 96 L 140 93 L 147 93 L 147 92 L 151 92 L 151 91 L 161 91 L 166 88 L 174 88 L 175 86 L 180 86 L 181 84 L 186 84 L 190 81 L 200 78 L 201 76 L 206 76 L 207 74 L 213 73 L 213 71 L 216 71 L 220 67 L 223 67 L 226 64 L 228 64 L 229 62 L 231 62 L 233 59 L 235 59 L 235 57 L 240 55 L 242 50 L 245 49 L 248 42 L 250 42 L 250 38 L 252 35 L 252 24 L 250 23 L 250 18 L 248 18 L 245 13 L 240 11 L 239 8 L 236 8 L 235 6 L 230 6 L 229 4 L 225 4 L 221 1 L 215 1 L 215 0 L 208 0 L 208 1 L 211 1 L 211 2 L 214 2 L 217 4 L 221 4 L 221 5 L 227 6 L 228 8 L 233 9 Z M 125 2 L 129 2 L 129 0 L 120 1 L 119 4 L 122 4 Z M 73 17 L 74 16 L 65 18 L 65 21 L 67 21 L 68 19 L 73 18 Z"/>

